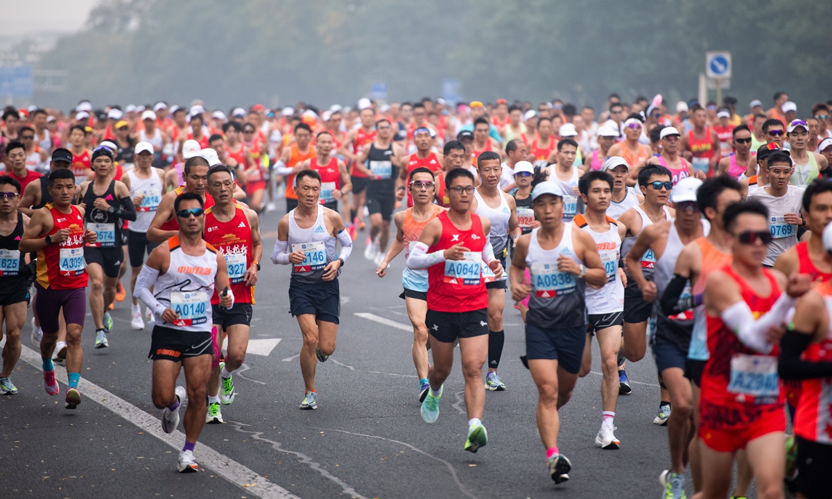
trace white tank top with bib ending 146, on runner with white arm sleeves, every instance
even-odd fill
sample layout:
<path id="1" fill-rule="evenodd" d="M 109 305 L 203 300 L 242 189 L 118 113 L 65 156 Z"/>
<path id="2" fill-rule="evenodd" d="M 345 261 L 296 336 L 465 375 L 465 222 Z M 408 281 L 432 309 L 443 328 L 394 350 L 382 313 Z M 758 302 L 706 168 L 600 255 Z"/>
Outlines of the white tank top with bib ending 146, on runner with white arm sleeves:
<path id="1" fill-rule="evenodd" d="M 287 251 L 300 250 L 306 254 L 306 258 L 300 264 L 292 264 L 291 279 L 307 284 L 324 282 L 324 267 L 329 262 L 338 259 L 335 254 L 335 238 L 329 235 L 324 223 L 324 206 L 318 205 L 318 218 L 309 229 L 301 229 L 295 223 L 295 210 L 291 210 L 287 241 L 289 243 Z M 341 273 L 340 269 L 338 273 Z"/>

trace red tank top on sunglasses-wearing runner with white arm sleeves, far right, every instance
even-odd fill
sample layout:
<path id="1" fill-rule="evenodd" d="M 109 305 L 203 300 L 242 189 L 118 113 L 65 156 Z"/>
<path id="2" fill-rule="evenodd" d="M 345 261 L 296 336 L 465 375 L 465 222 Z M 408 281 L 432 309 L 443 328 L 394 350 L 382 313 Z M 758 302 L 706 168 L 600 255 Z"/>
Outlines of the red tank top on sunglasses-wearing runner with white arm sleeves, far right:
<path id="1" fill-rule="evenodd" d="M 771 287 L 771 293 L 766 297 L 756 294 L 745 279 L 735 273 L 730 264 L 720 270 L 740 286 L 742 299 L 748 304 L 755 319 L 768 312 L 771 305 L 780 298 L 780 286 L 768 269 L 762 269 Z M 708 350 L 711 352 L 711 358 L 702 372 L 701 398 L 723 407 L 735 408 L 737 413 L 745 414 L 749 411 L 762 412 L 776 406 L 783 407 L 783 393 L 777 377 L 777 356 L 780 348 L 775 345 L 766 355 L 757 353 L 742 344 L 736 333 L 728 329 L 720 317 L 708 315 L 707 319 Z M 770 364 L 769 371 L 756 370 L 765 363 Z M 749 387 L 760 389 L 760 393 L 748 393 Z"/>

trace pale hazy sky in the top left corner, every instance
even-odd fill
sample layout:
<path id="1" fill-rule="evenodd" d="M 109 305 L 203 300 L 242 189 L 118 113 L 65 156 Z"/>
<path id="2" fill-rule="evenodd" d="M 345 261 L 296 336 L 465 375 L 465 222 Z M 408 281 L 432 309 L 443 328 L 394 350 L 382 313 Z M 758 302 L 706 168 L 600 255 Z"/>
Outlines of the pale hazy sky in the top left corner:
<path id="1" fill-rule="evenodd" d="M 100 0 L 0 0 L 3 35 L 37 32 L 75 32 Z"/>

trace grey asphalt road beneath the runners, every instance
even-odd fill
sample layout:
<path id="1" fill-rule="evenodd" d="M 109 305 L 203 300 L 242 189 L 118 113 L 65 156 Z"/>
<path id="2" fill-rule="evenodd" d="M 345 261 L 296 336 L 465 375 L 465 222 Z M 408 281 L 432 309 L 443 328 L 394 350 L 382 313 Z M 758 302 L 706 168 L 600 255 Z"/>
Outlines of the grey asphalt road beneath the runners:
<path id="1" fill-rule="evenodd" d="M 279 217 L 275 212 L 261 221 L 266 255 Z M 27 350 L 34 348 L 27 324 L 22 337 L 29 362 L 22 359 L 12 375 L 19 393 L 0 398 L 2 496 L 660 496 L 657 477 L 670 458 L 666 427 L 652 423 L 659 388 L 649 352 L 627 368 L 633 393 L 618 399 L 616 435 L 622 448 L 603 451 L 594 444 L 602 417 L 593 347 L 595 373 L 579 380 L 572 401 L 560 412 L 558 447 L 573 469 L 572 479 L 556 486 L 537 435 L 537 390 L 519 360 L 525 353 L 522 321 L 509 303 L 500 367 L 508 390 L 486 394 L 488 446 L 477 454 L 464 452 L 468 418 L 459 364 L 445 385 L 438 422 L 428 426 L 419 416 L 412 332 L 398 297 L 404 256 L 379 279 L 363 258 L 364 239 L 366 233 L 359 235 L 340 277 L 338 348 L 319 364 L 316 411 L 298 409 L 304 387 L 297 358 L 300 330 L 289 314 L 290 269 L 264 258 L 251 338 L 272 341 L 255 342 L 260 354 L 250 352 L 235 373 L 237 396 L 223 406 L 225 425 L 203 430 L 195 451 L 200 473 L 176 473 L 183 437 L 161 433 L 160 411 L 150 396 L 151 325 L 130 329 L 129 295 L 112 313 L 116 327 L 109 334 L 110 348 L 92 348 L 95 333 L 87 319 L 83 402 L 76 411 L 63 408 L 65 374 L 58 375 L 60 397 L 43 391 L 38 355 Z M 399 327 L 383 324 L 384 319 Z M 687 486 L 690 496 L 690 478 Z"/>

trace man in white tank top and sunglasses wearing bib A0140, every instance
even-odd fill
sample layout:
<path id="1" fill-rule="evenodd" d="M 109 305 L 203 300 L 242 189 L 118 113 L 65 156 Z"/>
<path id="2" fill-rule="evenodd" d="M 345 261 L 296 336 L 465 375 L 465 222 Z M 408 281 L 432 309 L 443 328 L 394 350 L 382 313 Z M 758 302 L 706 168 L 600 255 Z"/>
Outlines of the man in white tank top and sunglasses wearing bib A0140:
<path id="1" fill-rule="evenodd" d="M 185 411 L 185 447 L 179 453 L 177 470 L 197 472 L 194 446 L 205 425 L 205 404 L 210 378 L 211 339 L 210 297 L 220 293 L 220 305 L 230 309 L 234 294 L 230 286 L 225 259 L 202 239 L 205 210 L 199 195 L 186 192 L 174 204 L 178 235 L 160 245 L 147 258 L 136 279 L 136 295 L 161 317 L 153 327 L 153 405 L 163 409 L 161 427 L 166 433 L 179 426 L 179 406 L 191 401 Z M 151 291 L 154 284 L 156 290 Z M 155 293 L 155 294 L 154 294 Z M 185 368 L 186 388 L 176 386 L 181 368 Z"/>

